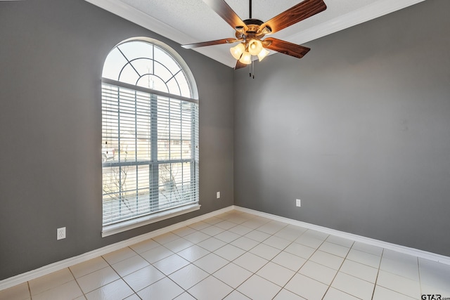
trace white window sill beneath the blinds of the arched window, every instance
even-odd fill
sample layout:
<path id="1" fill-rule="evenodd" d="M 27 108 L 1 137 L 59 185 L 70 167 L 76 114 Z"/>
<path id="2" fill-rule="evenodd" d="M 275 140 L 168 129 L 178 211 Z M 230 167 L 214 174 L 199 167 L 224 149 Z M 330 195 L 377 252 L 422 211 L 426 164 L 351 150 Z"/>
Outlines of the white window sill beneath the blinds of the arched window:
<path id="1" fill-rule="evenodd" d="M 101 231 L 101 237 L 108 237 L 110 235 L 115 235 L 116 233 L 123 233 L 124 231 L 127 230 L 131 230 L 141 226 L 146 226 L 148 224 L 156 223 L 165 219 L 170 219 L 173 218 L 174 216 L 180 216 L 181 214 L 187 214 L 188 212 L 196 211 L 198 209 L 200 209 L 200 204 L 191 204 L 185 207 L 178 207 L 176 209 L 161 211 L 159 213 L 151 214 L 149 216 L 143 216 L 138 219 L 124 221 L 122 223 L 103 226 L 103 230 Z"/>

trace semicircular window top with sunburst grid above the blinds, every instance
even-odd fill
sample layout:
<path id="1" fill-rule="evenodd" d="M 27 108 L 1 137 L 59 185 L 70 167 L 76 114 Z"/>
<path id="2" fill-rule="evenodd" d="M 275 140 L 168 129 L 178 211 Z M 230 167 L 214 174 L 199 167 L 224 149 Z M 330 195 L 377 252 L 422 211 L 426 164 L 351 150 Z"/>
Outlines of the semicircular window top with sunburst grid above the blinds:
<path id="1" fill-rule="evenodd" d="M 105 60 L 102 77 L 198 99 L 192 73 L 184 60 L 155 39 L 127 39 L 117 44 Z"/>

